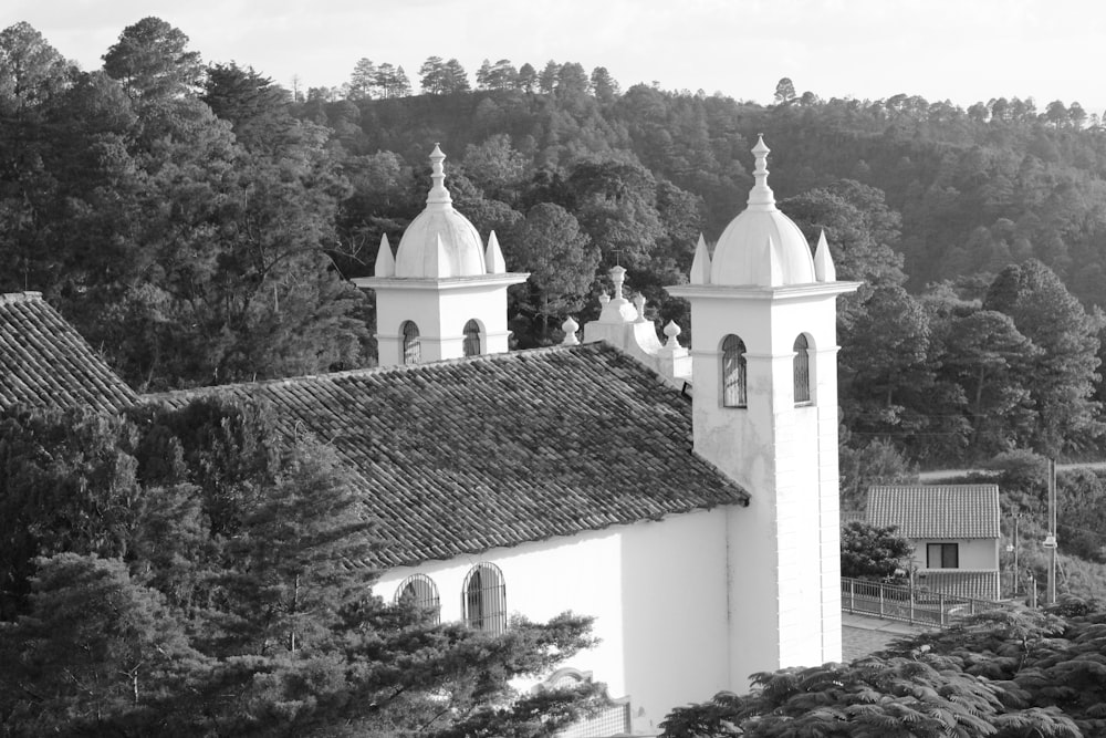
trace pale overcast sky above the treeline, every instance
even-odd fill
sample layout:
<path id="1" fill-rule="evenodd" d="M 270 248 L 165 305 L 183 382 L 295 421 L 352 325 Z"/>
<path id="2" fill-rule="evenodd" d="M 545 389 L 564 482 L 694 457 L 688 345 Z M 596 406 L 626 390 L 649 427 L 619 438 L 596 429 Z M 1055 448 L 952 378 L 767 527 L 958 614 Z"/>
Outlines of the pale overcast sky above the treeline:
<path id="1" fill-rule="evenodd" d="M 206 62 L 253 66 L 285 87 L 347 81 L 358 59 L 427 56 L 536 69 L 606 66 L 626 89 L 720 91 L 772 101 L 897 93 L 967 107 L 992 97 L 1078 101 L 1103 114 L 1103 0 L 4 0 L 0 27 L 28 21 L 64 56 L 98 69 L 124 28 L 156 15 Z"/>

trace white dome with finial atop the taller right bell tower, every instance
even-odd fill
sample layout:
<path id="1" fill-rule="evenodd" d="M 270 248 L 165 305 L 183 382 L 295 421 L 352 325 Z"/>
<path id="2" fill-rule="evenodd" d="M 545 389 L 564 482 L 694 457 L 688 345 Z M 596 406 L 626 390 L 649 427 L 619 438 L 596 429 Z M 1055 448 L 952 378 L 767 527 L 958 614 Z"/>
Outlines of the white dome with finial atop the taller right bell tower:
<path id="1" fill-rule="evenodd" d="M 768 186 L 769 147 L 753 147 L 755 184 L 749 205 L 722 231 L 711 259 L 710 282 L 728 285 L 782 287 L 815 281 L 814 259 L 803 231 L 775 207 Z"/>

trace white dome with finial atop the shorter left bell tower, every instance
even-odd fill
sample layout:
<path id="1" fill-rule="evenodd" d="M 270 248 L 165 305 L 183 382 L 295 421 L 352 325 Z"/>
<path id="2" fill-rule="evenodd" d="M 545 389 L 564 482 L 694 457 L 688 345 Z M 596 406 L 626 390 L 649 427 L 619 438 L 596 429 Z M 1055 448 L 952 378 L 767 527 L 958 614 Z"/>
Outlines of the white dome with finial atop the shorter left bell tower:
<path id="1" fill-rule="evenodd" d="M 437 144 L 430 154 L 432 186 L 426 208 L 404 231 L 396 251 L 396 277 L 472 277 L 486 273 L 480 233 L 453 209 Z"/>

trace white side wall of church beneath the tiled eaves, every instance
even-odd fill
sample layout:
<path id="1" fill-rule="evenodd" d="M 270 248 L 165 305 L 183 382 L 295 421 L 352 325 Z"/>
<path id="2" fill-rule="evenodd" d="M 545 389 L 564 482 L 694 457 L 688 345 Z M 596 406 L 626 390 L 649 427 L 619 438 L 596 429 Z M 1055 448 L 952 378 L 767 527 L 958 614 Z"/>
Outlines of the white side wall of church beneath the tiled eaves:
<path id="1" fill-rule="evenodd" d="M 571 610 L 595 617 L 601 643 L 565 666 L 592 672 L 612 697 L 629 696 L 635 724 L 656 726 L 672 707 L 733 688 L 727 518 L 741 510 L 690 512 L 393 569 L 373 590 L 392 601 L 408 575 L 426 574 L 438 588 L 442 621 L 460 620 L 465 575 L 477 563 L 494 563 L 512 614 L 545 621 Z"/>

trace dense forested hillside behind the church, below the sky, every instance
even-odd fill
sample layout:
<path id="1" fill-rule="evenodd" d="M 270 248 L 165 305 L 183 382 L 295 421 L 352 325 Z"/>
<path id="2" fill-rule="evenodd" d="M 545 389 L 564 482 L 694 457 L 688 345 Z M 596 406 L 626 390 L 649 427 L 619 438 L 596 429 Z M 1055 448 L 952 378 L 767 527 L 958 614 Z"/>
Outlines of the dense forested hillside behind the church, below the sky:
<path id="1" fill-rule="evenodd" d="M 139 389 L 371 364 L 372 297 L 347 278 L 420 211 L 435 143 L 455 205 L 532 273 L 519 346 L 594 318 L 616 262 L 687 331 L 662 287 L 742 209 L 763 133 L 781 208 L 865 282 L 839 321 L 846 469 L 1099 453 L 1106 131 L 1078 103 L 781 80 L 760 105 L 435 56 L 416 80 L 363 59 L 285 91 L 155 18 L 103 69 L 64 59 L 0 33 L 0 289 L 45 292 Z"/>

